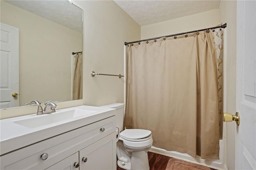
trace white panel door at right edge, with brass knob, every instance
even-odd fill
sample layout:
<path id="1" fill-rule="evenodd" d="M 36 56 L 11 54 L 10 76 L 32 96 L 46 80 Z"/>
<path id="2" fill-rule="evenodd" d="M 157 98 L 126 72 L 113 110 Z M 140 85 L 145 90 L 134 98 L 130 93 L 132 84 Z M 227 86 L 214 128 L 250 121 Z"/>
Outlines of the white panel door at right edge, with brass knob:
<path id="1" fill-rule="evenodd" d="M 236 170 L 256 170 L 256 1 L 237 1 Z"/>

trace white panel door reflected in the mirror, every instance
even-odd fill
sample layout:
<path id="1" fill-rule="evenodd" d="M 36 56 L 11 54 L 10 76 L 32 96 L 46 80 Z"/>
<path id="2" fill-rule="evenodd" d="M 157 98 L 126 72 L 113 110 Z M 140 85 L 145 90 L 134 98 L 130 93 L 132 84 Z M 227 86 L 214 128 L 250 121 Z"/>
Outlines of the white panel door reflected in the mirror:
<path id="1" fill-rule="evenodd" d="M 0 25 L 0 109 L 19 106 L 19 29 Z M 14 94 L 15 95 L 15 94 Z"/>

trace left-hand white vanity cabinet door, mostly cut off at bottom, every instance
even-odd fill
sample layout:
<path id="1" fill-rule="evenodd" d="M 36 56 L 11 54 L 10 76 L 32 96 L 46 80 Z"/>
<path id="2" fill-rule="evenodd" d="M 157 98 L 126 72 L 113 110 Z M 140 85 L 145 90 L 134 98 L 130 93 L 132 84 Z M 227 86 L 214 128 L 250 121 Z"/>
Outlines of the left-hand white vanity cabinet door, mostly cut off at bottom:
<path id="1" fill-rule="evenodd" d="M 79 170 L 79 154 L 76 152 L 68 158 L 50 166 L 46 170 Z"/>

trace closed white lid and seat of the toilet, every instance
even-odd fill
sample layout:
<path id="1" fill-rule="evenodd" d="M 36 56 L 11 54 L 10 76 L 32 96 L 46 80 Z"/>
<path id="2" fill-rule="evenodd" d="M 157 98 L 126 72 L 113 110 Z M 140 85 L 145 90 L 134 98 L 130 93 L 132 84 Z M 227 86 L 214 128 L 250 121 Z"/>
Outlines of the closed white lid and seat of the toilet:
<path id="1" fill-rule="evenodd" d="M 144 141 L 151 138 L 151 131 L 145 129 L 125 129 L 120 133 L 120 137 L 130 141 Z"/>

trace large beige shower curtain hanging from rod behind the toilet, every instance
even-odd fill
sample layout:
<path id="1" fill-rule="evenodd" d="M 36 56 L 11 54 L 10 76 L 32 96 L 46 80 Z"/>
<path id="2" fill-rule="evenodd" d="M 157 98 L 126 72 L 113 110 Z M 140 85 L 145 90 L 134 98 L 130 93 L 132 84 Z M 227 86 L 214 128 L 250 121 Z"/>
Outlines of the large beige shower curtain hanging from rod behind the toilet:
<path id="1" fill-rule="evenodd" d="M 152 131 L 153 145 L 219 157 L 217 70 L 212 35 L 162 38 L 127 47 L 124 127 Z"/>

